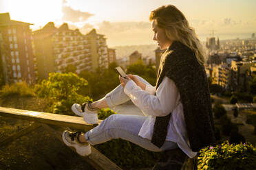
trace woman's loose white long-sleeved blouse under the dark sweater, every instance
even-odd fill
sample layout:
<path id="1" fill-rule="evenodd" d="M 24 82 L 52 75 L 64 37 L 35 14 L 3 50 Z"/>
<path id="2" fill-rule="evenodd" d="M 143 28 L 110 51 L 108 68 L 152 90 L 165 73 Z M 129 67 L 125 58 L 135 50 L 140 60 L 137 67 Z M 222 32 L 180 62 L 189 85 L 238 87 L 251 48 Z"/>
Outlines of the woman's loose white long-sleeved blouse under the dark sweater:
<path id="1" fill-rule="evenodd" d="M 124 91 L 147 116 L 139 136 L 151 140 L 156 117 L 164 117 L 171 112 L 166 140 L 177 143 L 189 158 L 196 156 L 197 152 L 192 151 L 190 147 L 180 93 L 173 80 L 165 76 L 157 90 L 156 87 L 148 84 L 146 89 L 142 90 L 134 81 L 129 80 Z M 156 95 L 154 95 L 155 91 Z"/>

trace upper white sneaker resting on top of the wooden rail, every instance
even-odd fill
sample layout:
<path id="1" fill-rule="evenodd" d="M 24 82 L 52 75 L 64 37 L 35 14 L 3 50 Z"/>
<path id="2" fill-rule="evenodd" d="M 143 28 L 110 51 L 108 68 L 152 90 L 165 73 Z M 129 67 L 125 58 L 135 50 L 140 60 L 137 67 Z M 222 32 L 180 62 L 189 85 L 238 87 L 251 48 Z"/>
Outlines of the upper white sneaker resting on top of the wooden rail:
<path id="1" fill-rule="evenodd" d="M 73 104 L 72 111 L 79 117 L 83 117 L 86 123 L 98 124 L 98 109 L 89 110 L 88 104 L 84 104 L 84 111 L 81 104 Z"/>

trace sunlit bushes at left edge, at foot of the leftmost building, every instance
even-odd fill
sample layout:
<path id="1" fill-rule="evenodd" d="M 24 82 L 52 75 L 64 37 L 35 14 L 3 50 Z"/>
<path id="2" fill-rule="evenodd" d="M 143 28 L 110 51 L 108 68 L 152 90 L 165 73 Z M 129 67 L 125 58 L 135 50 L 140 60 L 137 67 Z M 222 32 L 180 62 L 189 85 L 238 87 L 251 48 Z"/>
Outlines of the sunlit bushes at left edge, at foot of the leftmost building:
<path id="1" fill-rule="evenodd" d="M 10 95 L 19 95 L 22 97 L 34 96 L 34 91 L 25 82 L 5 85 L 0 90 L 0 96 L 6 97 Z"/>

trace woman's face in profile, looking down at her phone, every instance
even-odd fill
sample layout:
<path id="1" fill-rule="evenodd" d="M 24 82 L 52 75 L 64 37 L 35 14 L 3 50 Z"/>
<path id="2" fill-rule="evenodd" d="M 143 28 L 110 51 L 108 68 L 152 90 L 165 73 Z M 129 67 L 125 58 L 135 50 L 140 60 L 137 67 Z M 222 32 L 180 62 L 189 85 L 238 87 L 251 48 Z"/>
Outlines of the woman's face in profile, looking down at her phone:
<path id="1" fill-rule="evenodd" d="M 151 22 L 151 26 L 154 32 L 153 40 L 158 42 L 158 46 L 161 50 L 167 49 L 171 45 L 172 41 L 167 38 L 164 29 L 158 27 L 155 20 Z"/>

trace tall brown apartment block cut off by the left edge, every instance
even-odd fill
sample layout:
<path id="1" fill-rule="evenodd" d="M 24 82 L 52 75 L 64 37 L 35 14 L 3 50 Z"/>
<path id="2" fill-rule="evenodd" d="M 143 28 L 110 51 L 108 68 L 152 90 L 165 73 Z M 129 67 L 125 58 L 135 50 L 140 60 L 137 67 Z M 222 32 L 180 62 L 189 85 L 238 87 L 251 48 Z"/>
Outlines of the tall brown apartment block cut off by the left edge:
<path id="1" fill-rule="evenodd" d="M 11 20 L 9 13 L 0 14 L 0 68 L 5 84 L 36 82 L 30 25 Z"/>

